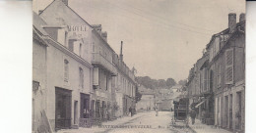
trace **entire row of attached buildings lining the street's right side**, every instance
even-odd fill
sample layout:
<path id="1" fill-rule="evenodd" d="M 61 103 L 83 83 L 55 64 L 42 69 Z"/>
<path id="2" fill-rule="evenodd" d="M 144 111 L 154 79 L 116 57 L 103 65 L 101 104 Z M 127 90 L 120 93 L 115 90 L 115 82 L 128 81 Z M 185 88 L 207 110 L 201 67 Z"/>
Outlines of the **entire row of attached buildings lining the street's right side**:
<path id="1" fill-rule="evenodd" d="M 189 72 L 188 97 L 191 107 L 206 122 L 244 132 L 245 112 L 245 15 L 228 14 L 228 28 L 214 34 L 203 57 Z M 202 59 L 206 59 L 202 62 Z"/>

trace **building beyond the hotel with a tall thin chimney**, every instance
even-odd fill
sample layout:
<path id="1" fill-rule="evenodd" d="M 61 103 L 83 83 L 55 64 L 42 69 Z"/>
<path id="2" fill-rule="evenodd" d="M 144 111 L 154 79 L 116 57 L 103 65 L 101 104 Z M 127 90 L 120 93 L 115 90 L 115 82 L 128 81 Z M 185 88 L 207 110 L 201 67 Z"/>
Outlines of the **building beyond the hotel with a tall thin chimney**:
<path id="1" fill-rule="evenodd" d="M 117 117 L 127 115 L 129 113 L 129 108 L 135 109 L 136 107 L 136 70 L 134 67 L 130 69 L 124 63 L 122 48 L 123 42 L 121 41 L 119 56 L 115 53 L 113 54 L 113 64 L 117 74 L 113 77 L 112 87 L 115 88 L 115 102 L 119 107 L 119 110 L 115 113 L 115 116 Z"/>

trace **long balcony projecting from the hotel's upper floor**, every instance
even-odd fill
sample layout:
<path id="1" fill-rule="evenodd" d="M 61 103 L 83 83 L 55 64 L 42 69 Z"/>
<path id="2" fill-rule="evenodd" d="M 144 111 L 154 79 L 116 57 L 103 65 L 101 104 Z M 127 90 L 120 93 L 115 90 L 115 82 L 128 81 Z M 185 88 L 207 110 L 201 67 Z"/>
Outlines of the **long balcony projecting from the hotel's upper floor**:
<path id="1" fill-rule="evenodd" d="M 93 59 L 92 59 L 92 64 L 95 67 L 100 67 L 102 69 L 105 69 L 111 73 L 111 75 L 115 76 L 116 75 L 116 69 L 113 67 L 113 64 L 105 59 L 101 54 L 99 53 L 93 53 Z"/>

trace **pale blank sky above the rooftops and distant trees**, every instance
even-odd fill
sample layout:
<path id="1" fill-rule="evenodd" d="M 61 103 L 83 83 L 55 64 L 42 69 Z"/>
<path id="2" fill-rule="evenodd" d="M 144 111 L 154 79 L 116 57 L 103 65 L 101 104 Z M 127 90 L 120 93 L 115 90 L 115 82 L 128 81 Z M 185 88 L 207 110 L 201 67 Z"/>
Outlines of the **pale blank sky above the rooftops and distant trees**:
<path id="1" fill-rule="evenodd" d="M 52 0 L 33 0 L 34 12 Z M 245 13 L 244 0 L 69 0 L 90 24 L 101 24 L 107 41 L 137 76 L 188 77 L 213 34 L 227 28 L 228 13 Z"/>

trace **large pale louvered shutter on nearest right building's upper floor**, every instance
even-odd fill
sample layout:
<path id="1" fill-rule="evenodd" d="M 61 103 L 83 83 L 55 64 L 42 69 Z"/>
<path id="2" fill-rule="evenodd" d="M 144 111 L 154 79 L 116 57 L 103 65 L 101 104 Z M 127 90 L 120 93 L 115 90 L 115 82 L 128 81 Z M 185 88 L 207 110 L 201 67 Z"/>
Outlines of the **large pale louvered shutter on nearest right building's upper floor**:
<path id="1" fill-rule="evenodd" d="M 233 49 L 225 51 L 225 84 L 233 83 Z"/>

